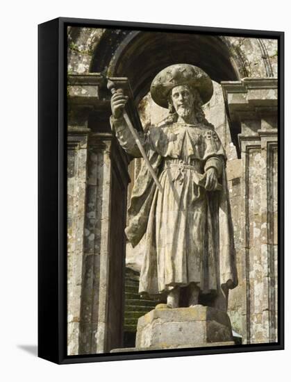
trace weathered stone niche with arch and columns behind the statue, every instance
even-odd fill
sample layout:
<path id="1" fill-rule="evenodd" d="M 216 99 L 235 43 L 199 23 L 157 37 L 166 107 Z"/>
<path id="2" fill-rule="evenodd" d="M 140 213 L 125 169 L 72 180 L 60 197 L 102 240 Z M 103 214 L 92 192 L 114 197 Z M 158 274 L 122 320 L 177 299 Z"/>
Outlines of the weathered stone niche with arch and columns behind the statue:
<path id="1" fill-rule="evenodd" d="M 69 31 L 69 355 L 135 346 L 138 319 L 150 314 L 158 304 L 138 296 L 138 259 L 142 249 L 135 256 L 128 244 L 126 248 L 124 227 L 128 197 L 140 163 L 128 158 L 110 130 L 110 93 L 100 74 L 108 67 L 107 74 L 131 97 L 133 105 L 128 113 L 138 129 L 147 128 L 149 122 L 156 123 L 161 115 L 147 95 L 149 85 L 159 69 L 174 62 L 167 54 L 169 42 L 165 44 L 163 33 L 154 37 L 154 33 L 142 31 Z M 275 342 L 276 41 L 174 34 L 171 47 L 177 62 L 185 61 L 185 44 L 191 48 L 188 60 L 213 78 L 215 94 L 205 113 L 215 125 L 228 156 L 226 172 L 239 279 L 228 299 L 231 327 L 243 344 Z M 148 60 L 149 50 L 144 47 L 160 58 L 154 61 L 155 65 Z M 135 111 L 137 106 L 140 118 Z M 207 333 L 207 328 L 203 333 Z"/>

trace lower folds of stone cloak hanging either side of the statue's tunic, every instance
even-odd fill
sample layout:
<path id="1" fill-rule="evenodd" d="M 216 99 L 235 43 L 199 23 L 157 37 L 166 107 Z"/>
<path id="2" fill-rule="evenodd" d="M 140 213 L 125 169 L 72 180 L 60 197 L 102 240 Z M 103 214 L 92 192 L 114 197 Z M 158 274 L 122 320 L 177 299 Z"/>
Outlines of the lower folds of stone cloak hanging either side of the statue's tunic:
<path id="1" fill-rule="evenodd" d="M 163 170 L 165 158 L 156 151 L 147 152 L 153 169 L 160 176 Z M 215 263 L 217 266 L 217 286 L 232 289 L 238 285 L 237 270 L 235 266 L 235 247 L 233 242 L 233 225 L 231 220 L 231 209 L 228 196 L 225 169 L 219 178 L 222 183 L 222 190 L 216 192 L 206 192 L 208 198 L 208 222 L 212 225 L 208 232 L 214 235 L 213 242 L 219 246 L 213 246 L 215 251 Z M 147 231 L 149 222 L 149 211 L 153 203 L 156 192 L 154 183 L 145 163 L 142 163 L 138 178 L 135 180 L 133 192 L 131 194 L 131 205 L 128 208 L 128 226 L 126 236 L 133 247 L 140 242 Z M 210 216 L 211 215 L 211 216 Z M 144 266 L 140 276 L 140 292 L 150 296 L 158 294 L 158 274 L 156 256 L 153 251 L 144 256 Z M 207 293 L 207 290 L 202 290 Z"/>

